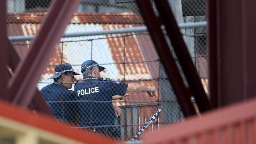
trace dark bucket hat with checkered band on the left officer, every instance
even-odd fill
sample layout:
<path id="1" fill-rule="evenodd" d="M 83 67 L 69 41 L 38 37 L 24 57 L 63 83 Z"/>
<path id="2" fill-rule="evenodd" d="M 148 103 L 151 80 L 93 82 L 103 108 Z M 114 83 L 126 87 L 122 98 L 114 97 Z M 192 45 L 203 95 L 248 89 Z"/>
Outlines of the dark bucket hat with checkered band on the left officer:
<path id="1" fill-rule="evenodd" d="M 70 63 L 63 63 L 61 65 L 57 65 L 55 66 L 55 73 L 53 76 L 51 76 L 49 79 L 55 79 L 58 78 L 61 74 L 63 74 L 64 72 L 73 72 L 74 75 L 80 75 L 77 72 L 74 71 L 74 69 L 72 68 L 72 66 L 70 65 Z"/>

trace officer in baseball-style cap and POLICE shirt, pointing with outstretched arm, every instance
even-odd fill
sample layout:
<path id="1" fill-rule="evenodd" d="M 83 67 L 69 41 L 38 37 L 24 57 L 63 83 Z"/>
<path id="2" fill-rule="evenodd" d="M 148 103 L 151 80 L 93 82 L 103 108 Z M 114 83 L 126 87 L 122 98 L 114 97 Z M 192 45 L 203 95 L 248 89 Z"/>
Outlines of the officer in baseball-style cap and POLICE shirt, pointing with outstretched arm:
<path id="1" fill-rule="evenodd" d="M 104 69 L 93 60 L 82 63 L 83 79 L 80 83 L 76 83 L 74 88 L 78 108 L 81 112 L 81 126 L 92 127 L 94 131 L 105 135 L 120 137 L 120 132 L 110 126 L 114 125 L 112 96 L 124 96 L 126 92 L 148 92 L 150 96 L 155 96 L 155 89 L 135 83 L 126 84 L 121 81 L 100 78 L 100 72 Z"/>

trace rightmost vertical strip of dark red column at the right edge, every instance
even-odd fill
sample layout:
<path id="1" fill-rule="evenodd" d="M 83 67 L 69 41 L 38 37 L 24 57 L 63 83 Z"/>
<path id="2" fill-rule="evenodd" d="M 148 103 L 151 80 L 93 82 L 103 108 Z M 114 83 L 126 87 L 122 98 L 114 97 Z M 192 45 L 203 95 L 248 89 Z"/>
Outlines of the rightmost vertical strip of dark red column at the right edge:
<path id="1" fill-rule="evenodd" d="M 243 96 L 248 99 L 256 96 L 256 17 L 255 0 L 242 0 L 243 35 Z"/>

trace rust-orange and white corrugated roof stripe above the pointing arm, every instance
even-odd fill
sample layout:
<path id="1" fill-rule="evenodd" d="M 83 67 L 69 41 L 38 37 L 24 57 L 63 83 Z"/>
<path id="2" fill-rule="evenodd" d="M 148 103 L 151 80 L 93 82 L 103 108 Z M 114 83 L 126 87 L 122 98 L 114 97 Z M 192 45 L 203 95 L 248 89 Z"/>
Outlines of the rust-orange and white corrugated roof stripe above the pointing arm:
<path id="1" fill-rule="evenodd" d="M 128 26 L 121 24 L 107 24 L 103 25 L 103 28 L 104 30 L 109 30 L 115 28 L 128 28 Z M 118 35 L 109 36 L 115 37 Z M 108 44 L 111 48 L 110 51 L 115 63 L 127 63 L 125 66 L 118 65 L 119 74 L 124 75 L 124 79 L 131 79 L 130 76 L 132 76 L 133 79 L 152 78 L 146 63 L 133 63 L 135 61 L 145 61 L 144 55 L 142 54 L 134 35 L 110 38 L 108 39 Z"/>

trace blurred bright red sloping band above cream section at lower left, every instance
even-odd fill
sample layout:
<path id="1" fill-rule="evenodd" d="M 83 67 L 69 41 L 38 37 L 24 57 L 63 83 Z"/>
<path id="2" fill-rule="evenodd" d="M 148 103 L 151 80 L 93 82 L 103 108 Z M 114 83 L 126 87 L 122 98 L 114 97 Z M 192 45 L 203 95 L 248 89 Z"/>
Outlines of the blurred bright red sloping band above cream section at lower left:
<path id="1" fill-rule="evenodd" d="M 0 117 L 8 118 L 24 125 L 42 129 L 49 133 L 54 133 L 83 144 L 116 144 L 110 138 L 97 136 L 95 133 L 71 129 L 56 122 L 53 118 L 33 114 L 31 111 L 20 109 L 20 107 L 11 106 L 10 104 L 0 101 Z M 25 131 L 25 130 L 24 130 Z"/>

